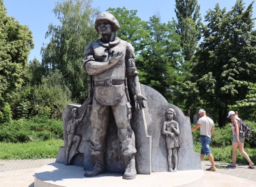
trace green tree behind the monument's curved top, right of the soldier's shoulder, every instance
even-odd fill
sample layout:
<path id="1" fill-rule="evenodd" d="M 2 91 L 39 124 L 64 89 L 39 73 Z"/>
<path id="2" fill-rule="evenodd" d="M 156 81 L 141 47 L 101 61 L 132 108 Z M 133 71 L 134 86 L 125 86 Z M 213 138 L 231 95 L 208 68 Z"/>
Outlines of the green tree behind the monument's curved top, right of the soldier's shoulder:
<path id="1" fill-rule="evenodd" d="M 180 36 L 175 22 L 161 23 L 160 16 L 152 16 L 147 23 L 150 38 L 136 58 L 140 82 L 158 90 L 167 100 L 173 101 L 171 86 L 179 80 L 182 61 Z"/>

